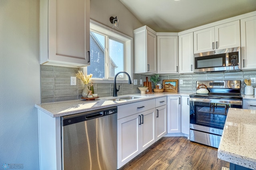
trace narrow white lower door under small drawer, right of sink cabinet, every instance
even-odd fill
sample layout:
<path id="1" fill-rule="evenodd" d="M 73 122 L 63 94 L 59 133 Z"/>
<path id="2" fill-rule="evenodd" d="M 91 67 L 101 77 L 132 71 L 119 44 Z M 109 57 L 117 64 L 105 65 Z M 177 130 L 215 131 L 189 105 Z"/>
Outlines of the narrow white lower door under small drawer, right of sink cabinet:
<path id="1" fill-rule="evenodd" d="M 156 108 L 156 141 L 167 133 L 166 113 L 166 105 Z"/>

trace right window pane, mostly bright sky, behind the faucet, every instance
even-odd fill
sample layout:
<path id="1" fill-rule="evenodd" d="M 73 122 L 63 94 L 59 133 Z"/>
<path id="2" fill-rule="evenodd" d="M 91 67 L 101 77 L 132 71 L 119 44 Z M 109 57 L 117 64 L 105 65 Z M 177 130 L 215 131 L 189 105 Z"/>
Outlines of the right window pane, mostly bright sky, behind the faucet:
<path id="1" fill-rule="evenodd" d="M 114 77 L 119 71 L 124 71 L 124 44 L 109 39 L 109 77 Z M 124 77 L 124 74 L 119 74 Z"/>

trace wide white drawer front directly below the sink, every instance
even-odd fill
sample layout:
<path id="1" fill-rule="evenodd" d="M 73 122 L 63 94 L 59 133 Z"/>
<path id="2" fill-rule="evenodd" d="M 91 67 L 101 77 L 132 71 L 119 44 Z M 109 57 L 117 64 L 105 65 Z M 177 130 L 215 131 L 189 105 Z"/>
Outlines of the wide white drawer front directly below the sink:
<path id="1" fill-rule="evenodd" d="M 130 115 L 134 115 L 136 113 L 153 109 L 156 106 L 155 102 L 156 102 L 155 99 L 150 99 L 150 100 L 139 101 L 136 103 L 130 103 L 127 105 L 118 106 L 117 119 L 121 119 Z"/>

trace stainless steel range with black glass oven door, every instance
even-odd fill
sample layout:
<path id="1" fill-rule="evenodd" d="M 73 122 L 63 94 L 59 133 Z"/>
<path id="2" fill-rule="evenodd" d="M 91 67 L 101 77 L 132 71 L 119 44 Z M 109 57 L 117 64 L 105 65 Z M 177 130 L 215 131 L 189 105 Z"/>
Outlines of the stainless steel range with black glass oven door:
<path id="1" fill-rule="evenodd" d="M 219 147 L 229 108 L 242 109 L 240 80 L 197 81 L 208 94 L 190 95 L 190 140 Z"/>

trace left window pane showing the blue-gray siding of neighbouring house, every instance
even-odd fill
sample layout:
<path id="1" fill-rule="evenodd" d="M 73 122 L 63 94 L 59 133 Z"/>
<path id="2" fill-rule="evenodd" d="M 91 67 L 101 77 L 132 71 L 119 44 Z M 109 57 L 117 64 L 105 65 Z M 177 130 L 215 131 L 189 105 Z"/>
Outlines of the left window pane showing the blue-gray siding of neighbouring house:
<path id="1" fill-rule="evenodd" d="M 90 66 L 87 73 L 93 78 L 105 78 L 105 37 L 90 32 Z"/>

